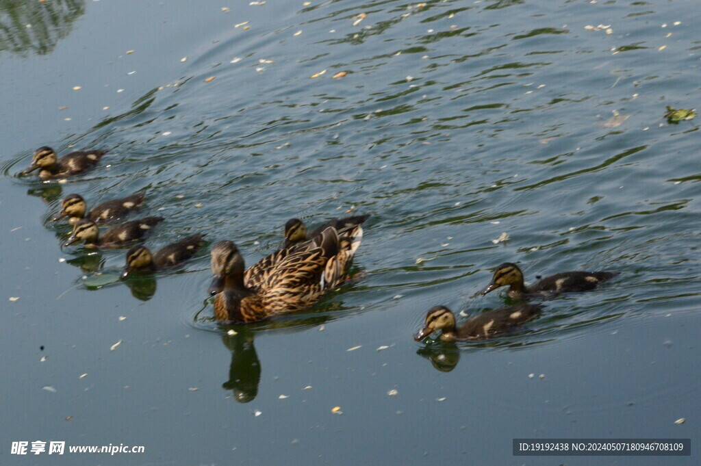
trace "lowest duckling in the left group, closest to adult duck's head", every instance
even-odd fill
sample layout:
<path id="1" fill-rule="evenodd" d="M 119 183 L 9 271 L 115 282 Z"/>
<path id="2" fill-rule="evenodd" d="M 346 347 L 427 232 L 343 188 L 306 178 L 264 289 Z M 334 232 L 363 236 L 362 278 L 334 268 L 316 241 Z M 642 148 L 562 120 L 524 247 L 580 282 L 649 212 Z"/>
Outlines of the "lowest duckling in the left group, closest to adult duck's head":
<path id="1" fill-rule="evenodd" d="M 126 278 L 130 273 L 139 270 L 154 272 L 179 265 L 195 255 L 202 245 L 204 235 L 192 235 L 158 249 L 156 254 L 144 245 L 136 245 L 127 251 L 127 265 L 121 275 Z"/>

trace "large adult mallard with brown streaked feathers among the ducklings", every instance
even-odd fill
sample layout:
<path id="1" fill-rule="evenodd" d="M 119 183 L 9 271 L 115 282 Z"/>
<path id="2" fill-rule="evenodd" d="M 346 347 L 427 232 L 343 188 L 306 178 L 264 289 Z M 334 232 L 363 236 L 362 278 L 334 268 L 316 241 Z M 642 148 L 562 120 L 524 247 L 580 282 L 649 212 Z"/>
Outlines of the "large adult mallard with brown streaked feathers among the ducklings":
<path id="1" fill-rule="evenodd" d="M 301 310 L 346 280 L 346 272 L 362 240 L 355 226 L 343 235 L 335 228 L 295 248 L 273 263 L 257 287 L 245 284 L 245 264 L 236 245 L 220 241 L 212 247 L 212 273 L 223 283 L 215 297 L 217 320 L 257 322 Z"/>

